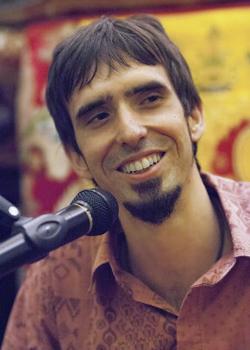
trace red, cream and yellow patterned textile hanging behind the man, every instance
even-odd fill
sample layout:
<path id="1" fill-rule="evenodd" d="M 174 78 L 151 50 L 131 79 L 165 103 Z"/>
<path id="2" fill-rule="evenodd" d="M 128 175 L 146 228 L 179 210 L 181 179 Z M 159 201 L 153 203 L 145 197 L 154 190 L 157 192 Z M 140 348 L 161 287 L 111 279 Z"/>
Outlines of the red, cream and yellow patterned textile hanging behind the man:
<path id="1" fill-rule="evenodd" d="M 202 96 L 202 168 L 250 181 L 250 7 L 157 16 L 187 58 Z M 87 22 L 42 23 L 25 33 L 18 105 L 26 215 L 54 211 L 90 186 L 70 168 L 44 105 L 52 49 Z"/>

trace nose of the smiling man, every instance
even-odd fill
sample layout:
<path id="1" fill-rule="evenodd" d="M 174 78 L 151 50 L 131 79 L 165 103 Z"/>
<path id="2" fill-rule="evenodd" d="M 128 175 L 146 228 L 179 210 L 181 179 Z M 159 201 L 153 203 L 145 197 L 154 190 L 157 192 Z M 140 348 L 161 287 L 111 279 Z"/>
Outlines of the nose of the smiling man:
<path id="1" fill-rule="evenodd" d="M 147 128 L 137 112 L 123 108 L 117 116 L 116 141 L 119 144 L 136 146 L 147 135 Z"/>

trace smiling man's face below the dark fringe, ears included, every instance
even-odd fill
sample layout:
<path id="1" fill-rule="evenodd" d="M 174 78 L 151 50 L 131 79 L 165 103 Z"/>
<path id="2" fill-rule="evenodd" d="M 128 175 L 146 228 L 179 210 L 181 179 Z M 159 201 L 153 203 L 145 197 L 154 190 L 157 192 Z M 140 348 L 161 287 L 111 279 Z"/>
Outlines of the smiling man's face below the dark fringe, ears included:
<path id="1" fill-rule="evenodd" d="M 69 152 L 73 166 L 119 204 L 143 202 L 189 181 L 201 113 L 185 118 L 162 66 L 131 63 L 110 72 L 103 65 L 73 94 L 69 111 L 83 154 Z"/>

